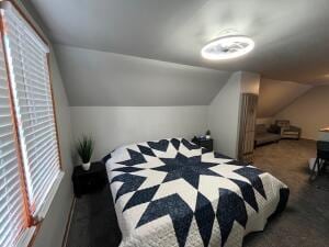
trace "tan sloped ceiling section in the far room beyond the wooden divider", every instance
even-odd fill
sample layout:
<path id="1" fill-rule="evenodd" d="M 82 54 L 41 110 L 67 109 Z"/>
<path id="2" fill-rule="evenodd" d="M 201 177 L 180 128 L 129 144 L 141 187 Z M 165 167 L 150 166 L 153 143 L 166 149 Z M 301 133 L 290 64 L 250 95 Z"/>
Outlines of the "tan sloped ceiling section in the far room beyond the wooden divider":
<path id="1" fill-rule="evenodd" d="M 309 85 L 262 78 L 258 101 L 258 117 L 274 116 L 311 88 Z"/>

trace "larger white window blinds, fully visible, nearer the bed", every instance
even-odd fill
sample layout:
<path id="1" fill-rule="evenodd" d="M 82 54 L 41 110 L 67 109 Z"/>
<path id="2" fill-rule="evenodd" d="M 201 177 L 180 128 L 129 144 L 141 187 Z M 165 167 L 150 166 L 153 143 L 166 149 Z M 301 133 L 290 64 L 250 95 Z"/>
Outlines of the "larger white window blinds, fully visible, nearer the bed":
<path id="1" fill-rule="evenodd" d="M 11 4 L 1 13 L 30 211 L 35 216 L 60 172 L 49 50 Z"/>

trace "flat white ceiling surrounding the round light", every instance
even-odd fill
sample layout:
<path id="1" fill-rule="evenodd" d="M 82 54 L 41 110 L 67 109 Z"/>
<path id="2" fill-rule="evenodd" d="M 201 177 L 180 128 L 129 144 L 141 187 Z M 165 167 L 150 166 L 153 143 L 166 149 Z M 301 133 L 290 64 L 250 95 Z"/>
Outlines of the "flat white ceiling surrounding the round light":
<path id="1" fill-rule="evenodd" d="M 272 79 L 329 81 L 328 0 L 31 0 L 58 44 Z M 209 63 L 226 30 L 256 41 L 248 56 Z"/>

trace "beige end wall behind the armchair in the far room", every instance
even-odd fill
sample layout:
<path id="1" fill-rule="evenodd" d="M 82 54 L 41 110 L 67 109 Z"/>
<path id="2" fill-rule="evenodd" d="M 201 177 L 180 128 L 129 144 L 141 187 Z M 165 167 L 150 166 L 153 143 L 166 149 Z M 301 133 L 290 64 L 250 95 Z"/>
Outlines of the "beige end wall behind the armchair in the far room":
<path id="1" fill-rule="evenodd" d="M 329 86 L 318 86 L 298 98 L 275 116 L 302 127 L 302 137 L 319 138 L 318 130 L 329 126 Z"/>

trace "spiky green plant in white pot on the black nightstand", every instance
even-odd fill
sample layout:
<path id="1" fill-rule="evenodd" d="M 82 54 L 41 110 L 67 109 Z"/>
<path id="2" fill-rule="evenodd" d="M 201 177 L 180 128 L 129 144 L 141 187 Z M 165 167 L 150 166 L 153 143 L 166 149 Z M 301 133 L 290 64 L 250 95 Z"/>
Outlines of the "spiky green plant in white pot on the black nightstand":
<path id="1" fill-rule="evenodd" d="M 83 170 L 89 170 L 90 160 L 94 149 L 94 142 L 90 136 L 83 135 L 77 143 L 77 153 L 82 161 Z"/>

